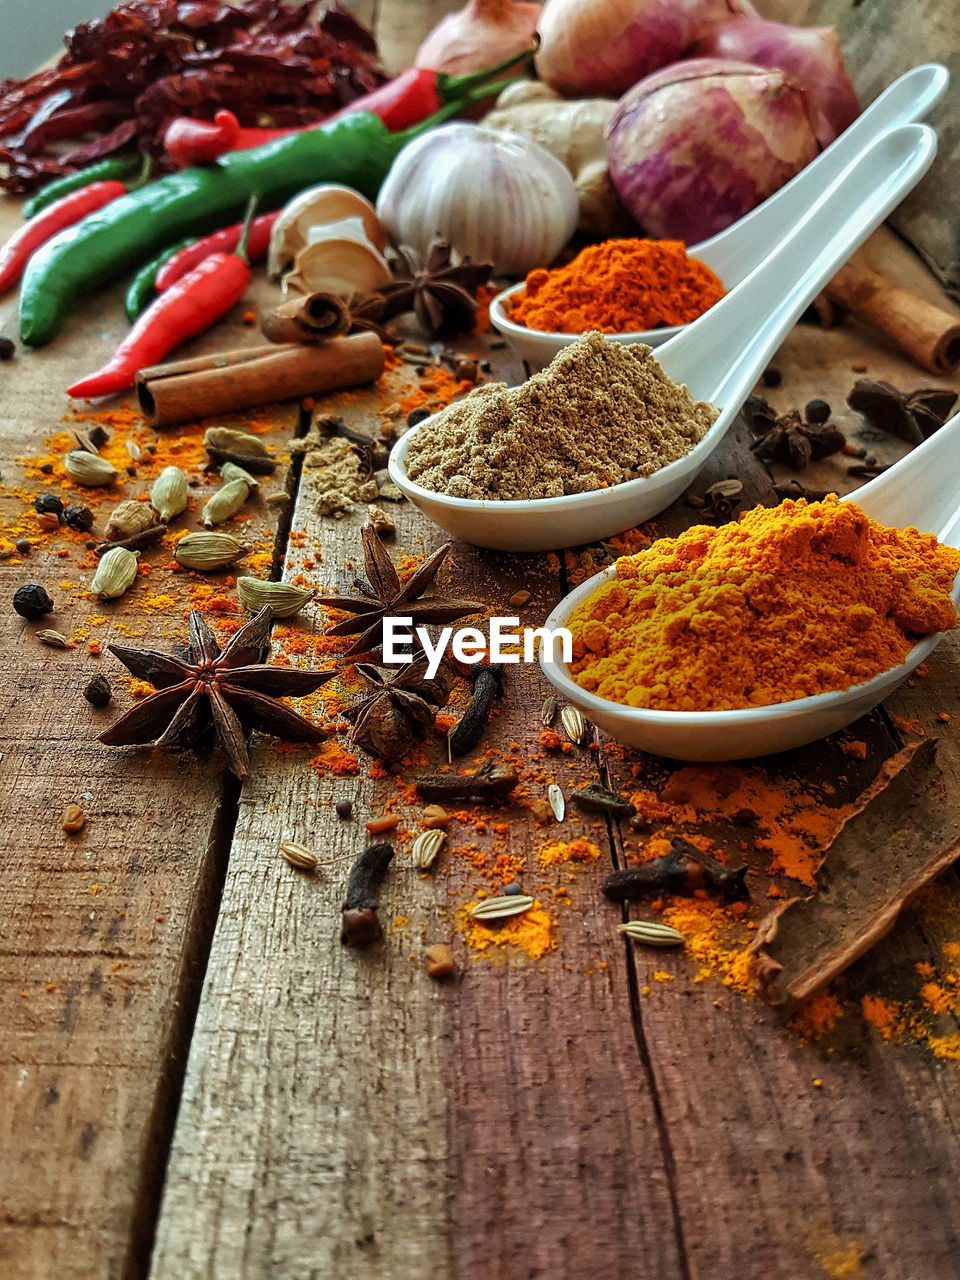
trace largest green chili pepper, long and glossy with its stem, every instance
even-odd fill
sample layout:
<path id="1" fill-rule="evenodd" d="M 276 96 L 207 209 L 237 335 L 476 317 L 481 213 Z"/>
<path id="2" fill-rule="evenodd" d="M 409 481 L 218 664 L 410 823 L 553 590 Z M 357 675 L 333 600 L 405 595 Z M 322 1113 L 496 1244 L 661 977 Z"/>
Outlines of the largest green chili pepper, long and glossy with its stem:
<path id="1" fill-rule="evenodd" d="M 512 81 L 463 95 L 403 133 L 390 133 L 369 111 L 352 111 L 122 196 L 55 236 L 29 260 L 20 289 L 23 342 L 31 347 L 50 342 L 84 294 L 157 252 L 172 236 L 200 236 L 237 221 L 253 192 L 260 192 L 268 210 L 317 182 L 343 183 L 372 200 L 407 142 L 462 111 L 477 95 L 490 97 L 507 83 Z"/>

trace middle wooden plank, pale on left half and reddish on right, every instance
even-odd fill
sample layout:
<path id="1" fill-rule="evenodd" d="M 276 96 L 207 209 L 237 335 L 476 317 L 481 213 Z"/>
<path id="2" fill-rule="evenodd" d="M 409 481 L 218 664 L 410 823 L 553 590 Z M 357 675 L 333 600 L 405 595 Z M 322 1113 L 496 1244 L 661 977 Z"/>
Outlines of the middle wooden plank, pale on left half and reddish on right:
<path id="1" fill-rule="evenodd" d="M 358 413 L 369 422 L 369 411 Z M 356 570 L 340 566 L 356 562 L 361 516 L 319 521 L 307 477 L 287 572 L 305 572 L 305 557 L 321 545 L 323 567 L 307 576 L 346 585 Z M 404 552 L 436 544 L 436 530 L 415 511 L 401 509 L 398 520 Z M 562 589 L 540 558 L 458 547 L 454 559 L 444 593 L 502 605 L 524 585 L 534 593 L 525 621 L 544 616 Z M 536 774 L 554 768 L 535 763 L 539 690 L 535 675 L 508 673 L 490 740 Z M 442 746 L 431 755 L 442 760 Z M 566 776 L 564 764 L 556 768 Z M 573 772 L 594 774 L 588 753 Z M 383 948 L 346 950 L 338 908 L 362 844 L 357 827 L 394 791 L 393 780 L 366 774 L 364 765 L 356 778 L 317 778 L 302 760 L 257 753 L 152 1275 L 680 1274 L 655 1112 L 630 1020 L 618 1011 L 623 974 L 598 965 L 611 940 L 590 877 L 575 878 L 570 906 L 556 908 L 559 952 L 477 960 L 453 918 L 483 882 L 466 850 L 456 850 L 503 847 L 526 865 L 524 882 L 538 883 L 535 854 L 550 832 L 534 828 L 526 810 L 504 814 L 506 837 L 454 824 L 454 852 L 430 877 L 411 869 L 404 840 L 383 910 L 385 922 L 404 923 Z M 530 785 L 543 790 L 539 776 Z M 344 794 L 355 800 L 351 823 L 329 808 Z M 415 833 L 419 806 L 398 812 Z M 563 836 L 581 829 L 575 819 Z M 305 882 L 278 859 L 283 837 L 342 860 Z M 444 940 L 461 975 L 436 987 L 422 950 Z"/>

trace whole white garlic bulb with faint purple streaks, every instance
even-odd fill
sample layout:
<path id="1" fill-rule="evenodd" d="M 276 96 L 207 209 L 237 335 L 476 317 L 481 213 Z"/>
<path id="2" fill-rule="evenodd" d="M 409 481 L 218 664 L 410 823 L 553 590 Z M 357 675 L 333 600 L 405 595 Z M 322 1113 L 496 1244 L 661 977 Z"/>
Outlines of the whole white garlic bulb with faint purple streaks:
<path id="1" fill-rule="evenodd" d="M 444 124 L 410 142 L 380 188 L 393 238 L 425 253 L 438 236 L 500 275 L 549 266 L 577 224 L 570 173 L 529 138 L 483 124 Z"/>

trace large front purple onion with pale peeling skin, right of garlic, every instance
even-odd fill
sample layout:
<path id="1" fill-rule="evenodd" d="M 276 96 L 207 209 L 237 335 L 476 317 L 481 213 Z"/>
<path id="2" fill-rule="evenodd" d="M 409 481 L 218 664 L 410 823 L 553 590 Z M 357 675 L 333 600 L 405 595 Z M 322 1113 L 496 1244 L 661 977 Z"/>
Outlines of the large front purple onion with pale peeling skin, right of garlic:
<path id="1" fill-rule="evenodd" d="M 626 93 L 607 127 L 617 193 L 644 230 L 696 244 L 818 152 L 803 90 L 781 70 L 696 58 Z"/>

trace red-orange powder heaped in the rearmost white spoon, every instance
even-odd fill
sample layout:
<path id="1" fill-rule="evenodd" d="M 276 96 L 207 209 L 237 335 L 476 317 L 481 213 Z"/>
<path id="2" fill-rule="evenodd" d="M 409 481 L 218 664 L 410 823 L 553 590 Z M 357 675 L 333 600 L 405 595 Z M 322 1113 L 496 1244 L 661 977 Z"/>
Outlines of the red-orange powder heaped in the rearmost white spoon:
<path id="1" fill-rule="evenodd" d="M 639 333 L 696 320 L 724 292 L 681 241 L 611 239 L 531 271 L 509 317 L 547 333 Z"/>

